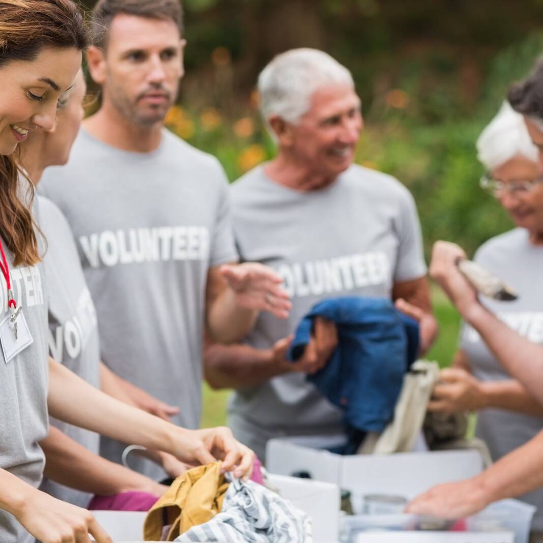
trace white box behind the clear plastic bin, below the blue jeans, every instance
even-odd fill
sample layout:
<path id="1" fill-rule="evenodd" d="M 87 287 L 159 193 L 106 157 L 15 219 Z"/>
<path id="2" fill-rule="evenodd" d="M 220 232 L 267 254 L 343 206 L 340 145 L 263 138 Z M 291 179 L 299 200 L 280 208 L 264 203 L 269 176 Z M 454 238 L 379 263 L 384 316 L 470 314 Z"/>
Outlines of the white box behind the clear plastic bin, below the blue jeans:
<path id="1" fill-rule="evenodd" d="M 477 451 L 341 456 L 314 448 L 324 443 L 323 438 L 305 436 L 271 439 L 266 449 L 268 471 L 281 475 L 307 471 L 313 479 L 337 484 L 353 494 L 412 498 L 435 484 L 467 479 L 483 470 Z"/>

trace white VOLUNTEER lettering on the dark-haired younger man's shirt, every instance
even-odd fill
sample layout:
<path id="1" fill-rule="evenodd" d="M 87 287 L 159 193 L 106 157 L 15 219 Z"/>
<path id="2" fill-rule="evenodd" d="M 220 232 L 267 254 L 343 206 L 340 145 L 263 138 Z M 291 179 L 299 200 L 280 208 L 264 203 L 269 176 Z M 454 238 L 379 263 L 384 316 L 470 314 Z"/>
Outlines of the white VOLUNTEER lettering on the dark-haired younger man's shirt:
<path id="1" fill-rule="evenodd" d="M 80 236 L 79 244 L 92 268 L 159 260 L 206 260 L 209 230 L 205 226 L 159 226 L 105 230 Z"/>

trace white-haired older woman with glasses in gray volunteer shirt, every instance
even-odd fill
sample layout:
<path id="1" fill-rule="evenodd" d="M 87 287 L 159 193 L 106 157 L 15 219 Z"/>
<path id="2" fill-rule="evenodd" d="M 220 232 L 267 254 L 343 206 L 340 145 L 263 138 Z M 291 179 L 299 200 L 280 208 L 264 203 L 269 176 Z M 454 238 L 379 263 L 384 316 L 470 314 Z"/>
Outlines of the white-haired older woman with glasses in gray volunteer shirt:
<path id="1" fill-rule="evenodd" d="M 507 210 L 517 228 L 484 243 L 475 260 L 520 294 L 514 302 L 481 302 L 521 335 L 543 344 L 543 177 L 538 150 L 522 115 L 507 103 L 483 130 L 477 150 L 489 172 L 481 187 Z M 510 378 L 471 326 L 463 325 L 459 347 L 452 368 L 441 372 L 430 408 L 479 411 L 476 433 L 498 460 L 543 429 L 543 407 Z M 531 542 L 543 541 L 543 489 L 523 499 L 538 507 L 533 523 L 538 532 Z"/>

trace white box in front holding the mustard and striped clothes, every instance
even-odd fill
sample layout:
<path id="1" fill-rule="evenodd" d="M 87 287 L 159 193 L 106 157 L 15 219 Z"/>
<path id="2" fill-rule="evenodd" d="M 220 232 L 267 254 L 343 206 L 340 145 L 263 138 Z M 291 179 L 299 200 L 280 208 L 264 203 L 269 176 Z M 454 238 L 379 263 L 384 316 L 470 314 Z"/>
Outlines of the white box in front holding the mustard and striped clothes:
<path id="1" fill-rule="evenodd" d="M 270 483 L 281 496 L 305 511 L 313 520 L 314 543 L 334 543 L 339 532 L 337 485 L 282 475 L 270 475 Z M 93 511 L 93 515 L 115 542 L 138 543 L 147 513 Z"/>

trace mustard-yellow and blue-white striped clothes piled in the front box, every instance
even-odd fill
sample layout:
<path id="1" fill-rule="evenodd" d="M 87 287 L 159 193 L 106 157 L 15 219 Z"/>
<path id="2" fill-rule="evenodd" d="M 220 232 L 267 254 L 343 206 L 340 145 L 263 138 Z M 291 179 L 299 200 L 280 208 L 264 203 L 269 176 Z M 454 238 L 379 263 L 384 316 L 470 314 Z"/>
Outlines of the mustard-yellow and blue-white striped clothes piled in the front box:
<path id="1" fill-rule="evenodd" d="M 213 462 L 187 471 L 149 510 L 146 541 L 312 543 L 308 515 L 254 481 Z"/>

